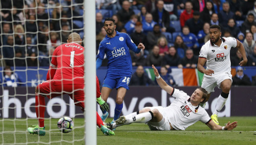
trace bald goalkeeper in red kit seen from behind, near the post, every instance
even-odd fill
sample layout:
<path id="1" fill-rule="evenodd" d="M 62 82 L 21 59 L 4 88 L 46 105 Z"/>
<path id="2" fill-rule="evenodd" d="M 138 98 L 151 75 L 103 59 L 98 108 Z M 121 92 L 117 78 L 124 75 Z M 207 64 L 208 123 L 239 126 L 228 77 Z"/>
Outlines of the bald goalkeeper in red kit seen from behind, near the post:
<path id="1" fill-rule="evenodd" d="M 84 48 L 81 46 L 79 34 L 69 35 L 67 44 L 58 46 L 52 55 L 52 61 L 47 73 L 47 81 L 40 83 L 35 88 L 35 109 L 38 125 L 29 127 L 28 132 L 44 136 L 45 132 L 45 97 L 49 99 L 68 94 L 76 106 L 84 111 Z M 97 102 L 109 110 L 108 104 L 100 97 L 99 80 L 97 81 Z M 97 113 L 97 112 L 96 112 Z M 108 129 L 97 113 L 97 126 L 105 135 L 115 135 Z"/>

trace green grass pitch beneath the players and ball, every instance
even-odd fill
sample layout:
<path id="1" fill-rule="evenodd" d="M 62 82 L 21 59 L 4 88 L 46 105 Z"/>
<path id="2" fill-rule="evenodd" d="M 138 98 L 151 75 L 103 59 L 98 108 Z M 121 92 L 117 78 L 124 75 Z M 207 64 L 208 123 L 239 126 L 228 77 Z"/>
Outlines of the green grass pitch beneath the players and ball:
<path id="1" fill-rule="evenodd" d="M 0 120 L 0 144 L 84 144 L 83 119 L 73 119 L 75 129 L 66 134 L 58 131 L 57 121 L 46 120 L 46 136 L 37 136 L 26 132 L 37 120 Z M 221 126 L 228 121 L 238 121 L 238 127 L 233 131 L 211 131 L 197 122 L 185 131 L 151 131 L 145 124 L 131 124 L 118 127 L 114 136 L 105 136 L 97 129 L 97 144 L 256 144 L 256 117 L 219 118 Z"/>

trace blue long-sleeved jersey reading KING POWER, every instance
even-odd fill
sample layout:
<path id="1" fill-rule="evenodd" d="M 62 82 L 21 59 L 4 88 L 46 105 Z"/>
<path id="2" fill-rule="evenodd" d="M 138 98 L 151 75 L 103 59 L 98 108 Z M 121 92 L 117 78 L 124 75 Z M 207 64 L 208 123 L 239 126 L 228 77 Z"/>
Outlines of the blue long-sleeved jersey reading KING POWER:
<path id="1" fill-rule="evenodd" d="M 140 49 L 126 33 L 116 32 L 116 36 L 106 37 L 100 42 L 97 58 L 103 60 L 104 54 L 108 59 L 109 76 L 132 75 L 132 59 L 129 50 L 139 53 Z"/>

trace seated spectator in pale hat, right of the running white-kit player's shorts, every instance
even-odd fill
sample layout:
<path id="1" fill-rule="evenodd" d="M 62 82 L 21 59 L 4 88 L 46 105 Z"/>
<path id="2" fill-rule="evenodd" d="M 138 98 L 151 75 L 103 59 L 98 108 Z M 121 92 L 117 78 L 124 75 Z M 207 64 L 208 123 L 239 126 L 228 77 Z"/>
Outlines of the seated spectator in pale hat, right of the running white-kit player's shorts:
<path id="1" fill-rule="evenodd" d="M 232 77 L 232 85 L 251 85 L 250 78 L 244 74 L 243 67 L 236 67 L 236 75 Z"/>

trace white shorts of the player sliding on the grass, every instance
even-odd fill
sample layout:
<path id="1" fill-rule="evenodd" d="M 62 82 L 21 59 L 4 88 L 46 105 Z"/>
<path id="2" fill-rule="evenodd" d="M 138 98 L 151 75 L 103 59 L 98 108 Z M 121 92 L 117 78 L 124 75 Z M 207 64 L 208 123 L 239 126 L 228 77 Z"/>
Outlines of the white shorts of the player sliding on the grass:
<path id="1" fill-rule="evenodd" d="M 166 116 L 163 113 L 163 107 L 162 106 L 156 106 L 156 107 L 146 107 L 151 110 L 158 109 L 158 111 L 163 115 L 163 119 L 160 122 L 147 122 L 148 127 L 150 127 L 150 130 L 170 130 L 170 123 Z"/>

